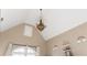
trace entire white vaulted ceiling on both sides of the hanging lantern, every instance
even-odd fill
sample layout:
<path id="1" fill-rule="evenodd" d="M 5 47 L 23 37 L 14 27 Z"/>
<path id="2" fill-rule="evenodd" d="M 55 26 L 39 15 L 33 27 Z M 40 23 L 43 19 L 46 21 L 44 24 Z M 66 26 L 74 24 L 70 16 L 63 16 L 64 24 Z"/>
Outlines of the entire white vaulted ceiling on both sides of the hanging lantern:
<path id="1" fill-rule="evenodd" d="M 6 31 L 19 23 L 35 25 L 39 21 L 39 9 L 1 9 L 0 31 Z M 87 9 L 43 9 L 43 21 L 46 29 L 42 32 L 50 40 L 67 30 L 87 22 Z"/>

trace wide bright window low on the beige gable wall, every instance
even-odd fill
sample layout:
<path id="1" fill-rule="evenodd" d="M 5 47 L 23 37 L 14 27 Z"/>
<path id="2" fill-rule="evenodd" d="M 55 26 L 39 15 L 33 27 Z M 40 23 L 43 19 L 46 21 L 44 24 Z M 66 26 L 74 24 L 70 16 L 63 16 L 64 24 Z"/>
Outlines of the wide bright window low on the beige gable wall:
<path id="1" fill-rule="evenodd" d="M 11 56 L 36 56 L 39 54 L 35 46 L 10 44 L 9 47 L 11 47 L 9 48 L 9 55 Z"/>

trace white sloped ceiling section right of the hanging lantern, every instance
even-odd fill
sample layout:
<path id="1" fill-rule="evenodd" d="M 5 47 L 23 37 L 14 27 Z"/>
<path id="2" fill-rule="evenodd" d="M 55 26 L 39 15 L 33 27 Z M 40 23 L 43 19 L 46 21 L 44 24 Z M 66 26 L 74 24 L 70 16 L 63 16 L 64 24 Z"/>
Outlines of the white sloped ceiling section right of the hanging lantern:
<path id="1" fill-rule="evenodd" d="M 48 40 L 72 28 L 87 22 L 87 9 L 51 9 L 44 10 L 46 29 L 43 36 Z"/>

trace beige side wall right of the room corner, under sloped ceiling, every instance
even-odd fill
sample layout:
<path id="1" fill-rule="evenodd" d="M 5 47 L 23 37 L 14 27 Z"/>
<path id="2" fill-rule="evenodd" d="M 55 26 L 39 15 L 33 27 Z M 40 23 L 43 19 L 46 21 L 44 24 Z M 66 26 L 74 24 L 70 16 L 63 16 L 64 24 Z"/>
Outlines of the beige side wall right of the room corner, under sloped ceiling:
<path id="1" fill-rule="evenodd" d="M 63 56 L 65 44 L 70 46 L 74 56 L 87 56 L 87 41 L 78 43 L 78 37 L 87 37 L 87 22 L 47 41 L 47 55 Z M 53 48 L 57 45 L 57 48 Z M 66 45 L 66 46 L 68 46 Z"/>

